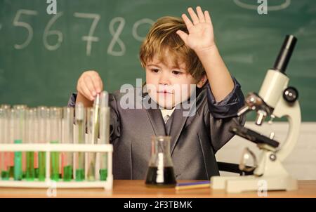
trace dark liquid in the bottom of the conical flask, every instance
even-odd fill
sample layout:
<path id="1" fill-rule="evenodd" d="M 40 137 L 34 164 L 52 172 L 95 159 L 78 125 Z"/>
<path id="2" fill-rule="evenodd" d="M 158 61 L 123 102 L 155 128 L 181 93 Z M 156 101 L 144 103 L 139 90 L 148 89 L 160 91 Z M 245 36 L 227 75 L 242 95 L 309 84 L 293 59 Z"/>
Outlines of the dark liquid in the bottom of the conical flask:
<path id="1" fill-rule="evenodd" d="M 164 177 L 162 178 L 162 176 Z M 161 170 L 158 170 L 157 167 L 153 167 L 153 166 L 150 166 L 148 168 L 146 182 L 145 182 L 147 186 L 175 187 L 176 183 L 177 182 L 174 176 L 173 167 L 164 167 Z"/>

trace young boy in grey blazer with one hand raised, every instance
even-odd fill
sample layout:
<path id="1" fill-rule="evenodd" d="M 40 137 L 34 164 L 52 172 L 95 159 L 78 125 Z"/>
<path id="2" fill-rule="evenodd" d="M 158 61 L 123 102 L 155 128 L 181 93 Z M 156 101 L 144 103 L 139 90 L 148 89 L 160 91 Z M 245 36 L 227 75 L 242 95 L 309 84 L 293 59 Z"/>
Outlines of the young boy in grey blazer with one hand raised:
<path id="1" fill-rule="evenodd" d="M 136 103 L 150 99 L 162 110 L 123 109 L 122 93 L 110 94 L 114 179 L 144 179 L 152 135 L 170 135 L 176 179 L 209 180 L 219 175 L 215 153 L 232 138 L 228 128 L 244 124 L 244 117 L 237 117 L 244 96 L 218 53 L 209 12 L 203 13 L 200 7 L 197 13 L 192 8 L 188 12 L 192 21 L 185 14 L 183 20 L 157 20 L 140 48 L 147 89 L 134 90 Z M 174 89 L 176 85 L 180 91 Z M 91 106 L 102 90 L 98 73 L 84 72 L 78 80 L 78 95 L 72 96 L 69 105 Z M 195 112 L 185 116 L 183 101 L 190 101 L 192 93 L 196 94 Z"/>

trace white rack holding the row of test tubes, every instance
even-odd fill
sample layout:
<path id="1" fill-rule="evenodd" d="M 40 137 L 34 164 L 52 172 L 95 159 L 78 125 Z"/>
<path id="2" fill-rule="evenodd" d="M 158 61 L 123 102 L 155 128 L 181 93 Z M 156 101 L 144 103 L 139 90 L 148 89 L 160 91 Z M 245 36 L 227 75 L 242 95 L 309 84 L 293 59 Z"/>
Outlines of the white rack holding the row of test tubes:
<path id="1" fill-rule="evenodd" d="M 0 187 L 23 188 L 104 188 L 112 190 L 112 152 L 111 144 L 0 144 L 0 152 L 46 152 L 46 179 L 45 181 L 27 180 L 0 180 Z M 69 181 L 51 180 L 51 152 L 107 152 L 107 180 Z"/>

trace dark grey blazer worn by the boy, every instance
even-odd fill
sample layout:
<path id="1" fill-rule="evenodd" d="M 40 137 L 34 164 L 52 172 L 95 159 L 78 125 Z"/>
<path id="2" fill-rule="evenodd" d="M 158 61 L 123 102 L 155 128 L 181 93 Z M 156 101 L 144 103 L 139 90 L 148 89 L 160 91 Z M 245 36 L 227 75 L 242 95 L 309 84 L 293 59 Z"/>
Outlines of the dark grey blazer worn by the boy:
<path id="1" fill-rule="evenodd" d="M 116 91 L 110 94 L 114 179 L 145 179 L 152 135 L 168 134 L 171 135 L 171 158 L 176 179 L 209 180 L 212 175 L 219 175 L 215 154 L 233 137 L 228 128 L 245 122 L 245 117 L 236 115 L 244 104 L 244 95 L 239 83 L 233 79 L 235 88 L 220 102 L 215 101 L 209 84 L 197 88 L 195 115 L 184 117 L 183 110 L 186 109 L 176 108 L 169 118 L 172 121 L 169 129 L 158 108 L 123 109 L 119 102 L 125 93 Z M 141 88 L 133 90 L 138 100 L 149 98 Z M 75 100 L 76 94 L 73 94 L 68 105 L 74 107 Z"/>

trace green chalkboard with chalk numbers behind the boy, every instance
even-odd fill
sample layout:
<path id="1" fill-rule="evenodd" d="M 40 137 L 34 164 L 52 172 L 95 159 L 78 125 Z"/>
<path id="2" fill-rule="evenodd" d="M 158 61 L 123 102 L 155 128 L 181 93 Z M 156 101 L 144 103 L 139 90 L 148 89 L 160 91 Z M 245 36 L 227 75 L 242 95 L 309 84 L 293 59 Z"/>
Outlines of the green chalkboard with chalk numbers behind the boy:
<path id="1" fill-rule="evenodd" d="M 96 69 L 105 89 L 145 80 L 138 51 L 150 25 L 188 6 L 209 10 L 216 43 L 244 94 L 258 91 L 286 34 L 298 43 L 287 75 L 303 121 L 316 121 L 316 1 L 0 0 L 0 104 L 66 105 L 81 72 Z"/>

